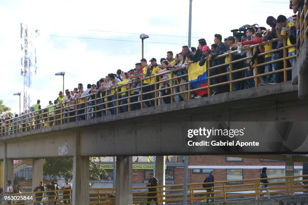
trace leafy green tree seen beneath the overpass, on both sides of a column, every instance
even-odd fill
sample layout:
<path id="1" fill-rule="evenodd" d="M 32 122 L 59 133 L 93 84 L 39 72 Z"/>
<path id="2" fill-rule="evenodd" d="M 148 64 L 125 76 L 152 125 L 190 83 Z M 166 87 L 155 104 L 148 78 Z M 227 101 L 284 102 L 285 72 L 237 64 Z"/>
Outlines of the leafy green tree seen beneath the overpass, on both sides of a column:
<path id="1" fill-rule="evenodd" d="M 101 176 L 106 176 L 107 172 L 101 164 L 92 162 L 93 157 L 89 157 L 90 180 L 99 180 Z M 53 177 L 64 177 L 72 179 L 72 158 L 45 158 L 44 175 Z"/>

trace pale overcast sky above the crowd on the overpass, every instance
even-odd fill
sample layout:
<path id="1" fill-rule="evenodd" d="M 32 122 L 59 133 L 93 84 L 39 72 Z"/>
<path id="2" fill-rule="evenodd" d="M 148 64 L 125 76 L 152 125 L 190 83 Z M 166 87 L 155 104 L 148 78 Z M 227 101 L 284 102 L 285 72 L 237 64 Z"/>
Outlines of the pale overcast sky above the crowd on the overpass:
<path id="1" fill-rule="evenodd" d="M 192 46 L 199 38 L 211 45 L 215 33 L 227 37 L 245 24 L 267 27 L 267 16 L 289 17 L 288 2 L 193 0 Z M 23 93 L 21 22 L 40 30 L 31 105 L 40 99 L 45 107 L 62 90 L 55 72 L 65 71 L 65 89 L 72 90 L 79 82 L 86 86 L 117 69 L 134 68 L 141 59 L 140 33 L 150 36 L 145 40 L 146 59 L 166 57 L 169 50 L 179 53 L 188 41 L 188 10 L 189 0 L 0 0 L 0 99 L 13 113 L 19 111 L 13 93 Z"/>

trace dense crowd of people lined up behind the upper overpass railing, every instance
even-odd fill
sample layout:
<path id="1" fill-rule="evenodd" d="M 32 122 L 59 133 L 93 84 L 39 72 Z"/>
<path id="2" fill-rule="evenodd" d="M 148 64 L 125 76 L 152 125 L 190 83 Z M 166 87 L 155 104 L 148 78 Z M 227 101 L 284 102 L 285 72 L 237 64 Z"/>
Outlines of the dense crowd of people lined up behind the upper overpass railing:
<path id="1" fill-rule="evenodd" d="M 220 34 L 215 34 L 214 43 L 210 46 L 205 39 L 199 39 L 197 48 L 183 46 L 182 51 L 177 54 L 168 51 L 166 58 L 161 58 L 159 62 L 156 58 L 151 58 L 148 63 L 143 58 L 135 64 L 134 69 L 127 71 L 118 69 L 116 73 L 109 73 L 94 84 L 87 84 L 84 87 L 83 83 L 79 83 L 72 90 L 66 89 L 64 93 L 60 91 L 58 97 L 50 100 L 47 108 L 43 110 L 40 100 L 37 100 L 37 104 L 31 110 L 33 112 L 27 111 L 20 116 L 16 115 L 13 119 L 8 115 L 2 116 L 1 135 L 170 104 L 230 90 L 229 83 L 224 83 L 213 86 L 211 93 L 208 93 L 207 84 L 202 84 L 202 79 L 199 78 L 196 79 L 198 87 L 192 86 L 189 73 L 194 72 L 190 70 L 194 69 L 193 64 L 205 66 L 210 78 L 207 81 L 210 81 L 211 85 L 227 82 L 230 77 L 232 80 L 244 78 L 232 82 L 232 91 L 251 88 L 256 84 L 282 82 L 285 80 L 285 75 L 280 71 L 294 66 L 296 62 L 296 15 L 289 18 L 279 15 L 277 19 L 269 16 L 266 24 L 270 29 L 258 25 L 245 25 L 232 30 L 233 36 L 223 38 Z M 284 41 L 287 45 L 285 48 L 287 55 L 290 57 L 286 62 L 282 60 Z M 250 45 L 258 46 L 245 49 Z M 232 73 L 228 73 L 231 65 L 231 55 L 228 55 L 230 52 L 233 61 L 245 58 L 232 63 Z M 165 73 L 170 70 L 172 74 Z M 258 83 L 255 82 L 256 74 L 263 74 L 257 78 Z M 176 79 L 170 80 L 171 77 Z M 287 70 L 287 79 L 291 79 L 290 69 Z M 201 92 L 202 94 L 189 91 L 202 87 L 206 90 Z"/>

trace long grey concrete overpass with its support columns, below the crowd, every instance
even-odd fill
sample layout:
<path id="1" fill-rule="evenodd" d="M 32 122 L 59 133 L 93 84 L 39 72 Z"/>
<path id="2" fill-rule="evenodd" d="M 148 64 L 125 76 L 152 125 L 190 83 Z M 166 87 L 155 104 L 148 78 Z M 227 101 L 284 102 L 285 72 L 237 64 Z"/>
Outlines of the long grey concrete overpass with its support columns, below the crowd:
<path id="1" fill-rule="evenodd" d="M 131 189 L 128 188 L 132 183 L 130 156 L 157 155 L 156 175 L 164 181 L 163 155 L 301 153 L 308 150 L 308 126 L 292 127 L 288 124 L 308 121 L 308 100 L 298 99 L 297 91 L 297 86 L 290 81 L 282 82 L 2 137 L 0 159 L 4 159 L 4 178 L 13 178 L 13 159 L 32 158 L 35 159 L 35 186 L 43 177 L 42 158 L 73 157 L 73 201 L 85 204 L 89 201 L 84 197 L 88 195 L 89 156 L 117 156 L 117 204 L 122 205 L 131 197 Z M 187 145 L 187 125 L 194 127 L 200 125 L 198 122 L 213 122 L 206 126 L 232 128 L 242 124 L 236 122 L 254 121 L 263 123 L 257 129 L 254 124 L 246 125 L 247 130 L 252 129 L 246 140 L 259 138 L 264 144 L 262 147 L 229 149 Z M 265 130 L 264 126 L 268 129 L 277 125 L 281 127 L 279 123 L 290 128 L 287 135 L 281 135 L 279 130 L 270 130 L 260 138 L 260 133 L 255 132 Z M 295 135 L 297 128 L 303 128 L 305 135 Z M 265 145 L 266 142 L 270 143 Z M 294 158 L 289 161 L 292 164 Z"/>

